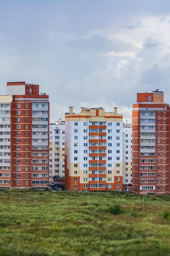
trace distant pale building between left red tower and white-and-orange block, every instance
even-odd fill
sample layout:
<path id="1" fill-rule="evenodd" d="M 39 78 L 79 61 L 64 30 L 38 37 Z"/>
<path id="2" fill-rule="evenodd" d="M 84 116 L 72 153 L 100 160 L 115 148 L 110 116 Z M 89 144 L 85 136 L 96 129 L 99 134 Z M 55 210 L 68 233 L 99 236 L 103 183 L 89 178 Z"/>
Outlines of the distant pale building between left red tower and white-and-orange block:
<path id="1" fill-rule="evenodd" d="M 60 119 L 50 124 L 50 179 L 64 178 L 65 121 Z"/>

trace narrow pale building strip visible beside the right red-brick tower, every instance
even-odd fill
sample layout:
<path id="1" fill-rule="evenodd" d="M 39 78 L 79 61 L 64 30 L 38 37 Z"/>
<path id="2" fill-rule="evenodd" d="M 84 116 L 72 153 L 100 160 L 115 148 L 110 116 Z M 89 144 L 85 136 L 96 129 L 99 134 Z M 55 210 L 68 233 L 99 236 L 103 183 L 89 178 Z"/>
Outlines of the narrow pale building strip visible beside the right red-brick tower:
<path id="1" fill-rule="evenodd" d="M 132 186 L 132 125 L 123 124 L 123 184 Z"/>

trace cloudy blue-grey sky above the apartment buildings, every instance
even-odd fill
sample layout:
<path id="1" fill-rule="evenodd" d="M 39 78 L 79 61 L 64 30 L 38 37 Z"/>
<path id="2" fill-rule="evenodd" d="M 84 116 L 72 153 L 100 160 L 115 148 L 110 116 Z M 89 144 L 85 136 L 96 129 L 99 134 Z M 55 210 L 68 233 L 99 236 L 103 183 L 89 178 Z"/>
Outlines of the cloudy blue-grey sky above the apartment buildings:
<path id="1" fill-rule="evenodd" d="M 69 106 L 129 123 L 137 92 L 170 103 L 170 1 L 0 0 L 0 94 L 11 81 L 49 94 L 51 123 Z"/>

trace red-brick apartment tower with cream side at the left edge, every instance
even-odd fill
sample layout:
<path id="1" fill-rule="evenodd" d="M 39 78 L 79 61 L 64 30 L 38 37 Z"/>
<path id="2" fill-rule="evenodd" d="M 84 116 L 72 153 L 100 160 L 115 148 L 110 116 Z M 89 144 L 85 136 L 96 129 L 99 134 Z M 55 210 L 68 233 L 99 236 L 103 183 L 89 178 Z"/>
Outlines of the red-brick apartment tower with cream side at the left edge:
<path id="1" fill-rule="evenodd" d="M 49 96 L 39 85 L 7 83 L 0 96 L 0 187 L 49 186 Z"/>

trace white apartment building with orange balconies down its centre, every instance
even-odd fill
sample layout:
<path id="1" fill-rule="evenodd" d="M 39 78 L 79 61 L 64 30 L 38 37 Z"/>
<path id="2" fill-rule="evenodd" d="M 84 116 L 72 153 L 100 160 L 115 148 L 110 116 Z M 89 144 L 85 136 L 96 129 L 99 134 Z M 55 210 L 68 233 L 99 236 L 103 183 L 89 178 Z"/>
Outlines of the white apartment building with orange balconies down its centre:
<path id="1" fill-rule="evenodd" d="M 122 119 L 117 108 L 65 113 L 66 190 L 122 190 Z"/>

